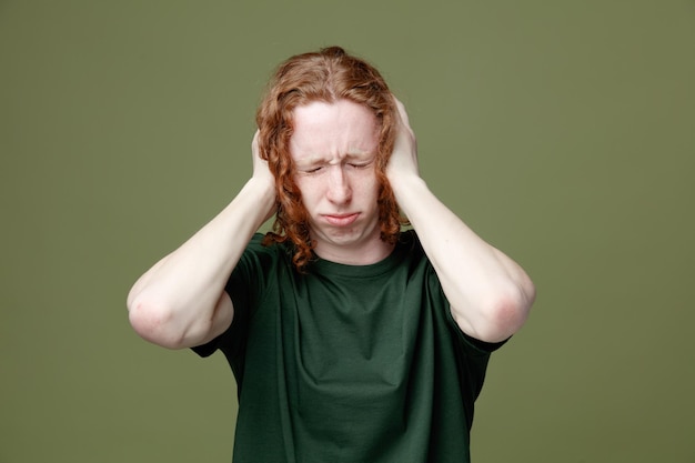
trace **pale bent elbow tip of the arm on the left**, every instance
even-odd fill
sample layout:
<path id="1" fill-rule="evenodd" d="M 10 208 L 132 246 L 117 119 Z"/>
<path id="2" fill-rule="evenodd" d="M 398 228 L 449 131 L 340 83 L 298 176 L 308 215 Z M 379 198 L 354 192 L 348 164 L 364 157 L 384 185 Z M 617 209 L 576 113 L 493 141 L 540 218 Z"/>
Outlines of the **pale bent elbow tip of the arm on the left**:
<path id="1" fill-rule="evenodd" d="M 178 333 L 171 311 L 141 300 L 129 301 L 128 320 L 140 338 L 167 349 L 182 349 L 183 335 Z"/>

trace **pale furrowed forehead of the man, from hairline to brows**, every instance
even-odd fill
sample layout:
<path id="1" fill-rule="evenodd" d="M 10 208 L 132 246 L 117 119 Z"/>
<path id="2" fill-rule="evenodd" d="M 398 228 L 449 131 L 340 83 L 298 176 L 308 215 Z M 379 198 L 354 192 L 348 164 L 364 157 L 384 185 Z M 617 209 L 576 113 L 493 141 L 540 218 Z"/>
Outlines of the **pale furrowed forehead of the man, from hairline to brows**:
<path id="1" fill-rule="evenodd" d="M 293 128 L 290 152 L 295 161 L 375 154 L 379 147 L 376 117 L 365 105 L 349 100 L 298 107 Z"/>

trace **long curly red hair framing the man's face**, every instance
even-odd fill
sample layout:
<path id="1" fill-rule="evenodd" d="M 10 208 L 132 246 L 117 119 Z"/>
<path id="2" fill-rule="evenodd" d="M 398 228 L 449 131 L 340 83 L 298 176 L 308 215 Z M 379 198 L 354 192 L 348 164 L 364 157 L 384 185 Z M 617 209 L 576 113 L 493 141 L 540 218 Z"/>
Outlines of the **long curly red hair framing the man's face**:
<path id="1" fill-rule="evenodd" d="M 385 174 L 397 122 L 397 109 L 386 82 L 374 67 L 340 47 L 294 56 L 275 71 L 255 120 L 260 132 L 259 152 L 275 177 L 276 192 L 275 221 L 263 243 L 290 240 L 294 244 L 292 261 L 300 271 L 312 259 L 314 243 L 310 238 L 309 213 L 293 179 L 294 167 L 289 149 L 293 111 L 313 101 L 331 103 L 341 99 L 363 104 L 376 117 L 380 135 L 375 171 L 380 184 L 381 239 L 395 243 L 405 222 Z"/>

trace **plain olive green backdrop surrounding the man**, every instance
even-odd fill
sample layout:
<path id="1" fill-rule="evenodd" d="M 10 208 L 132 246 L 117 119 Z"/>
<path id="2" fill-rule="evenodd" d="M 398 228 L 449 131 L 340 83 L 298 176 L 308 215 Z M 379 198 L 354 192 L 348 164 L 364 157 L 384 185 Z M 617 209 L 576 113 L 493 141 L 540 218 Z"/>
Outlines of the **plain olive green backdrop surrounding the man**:
<path id="1" fill-rule="evenodd" d="M 262 88 L 342 44 L 538 299 L 476 463 L 695 462 L 693 1 L 0 1 L 0 462 L 225 462 L 235 391 L 129 328 L 251 172 Z"/>

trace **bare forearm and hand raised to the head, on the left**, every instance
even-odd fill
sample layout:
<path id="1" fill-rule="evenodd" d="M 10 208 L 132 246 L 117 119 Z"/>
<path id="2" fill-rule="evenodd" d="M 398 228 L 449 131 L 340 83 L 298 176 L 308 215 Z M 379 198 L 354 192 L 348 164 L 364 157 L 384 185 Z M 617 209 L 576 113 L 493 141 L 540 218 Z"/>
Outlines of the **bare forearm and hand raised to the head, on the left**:
<path id="1" fill-rule="evenodd" d="M 258 228 L 273 211 L 272 174 L 258 157 L 234 200 L 179 249 L 148 270 L 128 294 L 129 319 L 145 340 L 170 349 L 203 344 L 229 328 L 226 280 Z"/>

